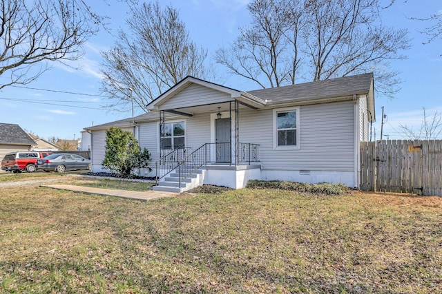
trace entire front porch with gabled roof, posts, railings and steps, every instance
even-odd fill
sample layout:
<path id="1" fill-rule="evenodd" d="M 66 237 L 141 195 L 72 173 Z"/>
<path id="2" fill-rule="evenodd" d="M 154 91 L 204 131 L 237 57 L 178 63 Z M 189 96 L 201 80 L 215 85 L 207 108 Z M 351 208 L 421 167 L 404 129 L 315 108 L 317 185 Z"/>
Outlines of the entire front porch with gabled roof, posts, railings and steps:
<path id="1" fill-rule="evenodd" d="M 240 112 L 262 109 L 266 103 L 193 77 L 149 103 L 148 109 L 160 118 L 160 159 L 155 163 L 159 185 L 176 182 L 187 189 L 189 179 L 197 178 L 191 182 L 238 189 L 260 178 L 259 145 L 250 136 L 249 142 L 240 141 Z"/>

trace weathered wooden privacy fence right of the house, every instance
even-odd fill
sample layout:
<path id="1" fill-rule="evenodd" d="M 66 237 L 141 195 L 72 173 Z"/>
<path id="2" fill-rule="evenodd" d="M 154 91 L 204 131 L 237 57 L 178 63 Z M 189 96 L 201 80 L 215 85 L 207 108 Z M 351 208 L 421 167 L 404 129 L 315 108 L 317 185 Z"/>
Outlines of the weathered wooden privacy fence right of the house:
<path id="1" fill-rule="evenodd" d="M 442 196 L 442 140 L 361 143 L 361 189 Z"/>

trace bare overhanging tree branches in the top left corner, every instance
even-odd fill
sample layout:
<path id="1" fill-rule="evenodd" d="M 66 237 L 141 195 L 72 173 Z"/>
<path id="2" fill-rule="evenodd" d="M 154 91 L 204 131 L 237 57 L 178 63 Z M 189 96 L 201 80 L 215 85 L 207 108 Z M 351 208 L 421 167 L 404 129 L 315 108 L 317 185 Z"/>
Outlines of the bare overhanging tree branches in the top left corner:
<path id="1" fill-rule="evenodd" d="M 77 60 L 104 19 L 84 0 L 0 3 L 0 89 L 34 81 L 50 61 Z"/>

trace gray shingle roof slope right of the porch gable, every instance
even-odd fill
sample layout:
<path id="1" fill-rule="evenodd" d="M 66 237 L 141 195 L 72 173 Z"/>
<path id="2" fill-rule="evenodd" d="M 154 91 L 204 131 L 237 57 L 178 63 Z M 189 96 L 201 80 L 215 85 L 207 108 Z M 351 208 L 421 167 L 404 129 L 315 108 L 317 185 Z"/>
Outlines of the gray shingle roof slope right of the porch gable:
<path id="1" fill-rule="evenodd" d="M 247 91 L 258 98 L 271 100 L 272 103 L 294 102 L 309 98 L 332 98 L 368 94 L 373 83 L 373 74 L 358 74 L 324 81 L 315 81 L 283 87 Z"/>

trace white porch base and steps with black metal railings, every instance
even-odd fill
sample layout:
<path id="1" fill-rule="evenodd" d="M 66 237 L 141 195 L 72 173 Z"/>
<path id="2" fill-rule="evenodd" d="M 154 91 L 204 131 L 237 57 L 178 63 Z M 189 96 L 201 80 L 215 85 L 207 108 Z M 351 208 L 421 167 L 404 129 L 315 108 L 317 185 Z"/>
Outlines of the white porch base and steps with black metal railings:
<path id="1" fill-rule="evenodd" d="M 229 153 L 229 143 L 206 143 L 198 149 L 177 148 L 155 162 L 155 191 L 184 192 L 200 185 L 241 189 L 261 177 L 259 145 L 238 143 L 235 162 L 220 162 L 222 152 Z"/>

